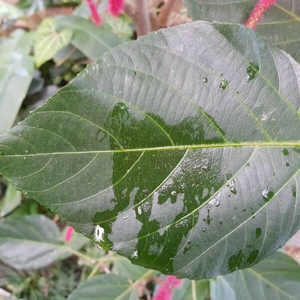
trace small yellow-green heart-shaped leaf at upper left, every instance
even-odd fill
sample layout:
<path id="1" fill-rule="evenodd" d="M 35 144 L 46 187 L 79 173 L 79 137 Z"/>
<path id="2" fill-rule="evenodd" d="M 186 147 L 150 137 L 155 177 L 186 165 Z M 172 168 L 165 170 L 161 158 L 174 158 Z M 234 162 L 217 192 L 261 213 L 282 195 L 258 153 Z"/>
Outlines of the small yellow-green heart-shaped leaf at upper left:
<path id="1" fill-rule="evenodd" d="M 34 59 L 37 67 L 51 59 L 57 51 L 69 44 L 72 34 L 71 29 L 56 31 L 55 19 L 44 19 L 37 28 L 34 37 Z"/>

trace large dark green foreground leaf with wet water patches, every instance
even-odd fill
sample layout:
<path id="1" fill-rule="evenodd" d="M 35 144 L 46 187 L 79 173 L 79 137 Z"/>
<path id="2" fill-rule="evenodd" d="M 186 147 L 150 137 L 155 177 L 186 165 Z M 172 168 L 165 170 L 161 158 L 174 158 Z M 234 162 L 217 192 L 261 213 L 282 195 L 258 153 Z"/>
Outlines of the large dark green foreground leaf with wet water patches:
<path id="1" fill-rule="evenodd" d="M 135 264 L 245 268 L 299 228 L 299 73 L 242 25 L 149 33 L 2 135 L 0 171 Z"/>

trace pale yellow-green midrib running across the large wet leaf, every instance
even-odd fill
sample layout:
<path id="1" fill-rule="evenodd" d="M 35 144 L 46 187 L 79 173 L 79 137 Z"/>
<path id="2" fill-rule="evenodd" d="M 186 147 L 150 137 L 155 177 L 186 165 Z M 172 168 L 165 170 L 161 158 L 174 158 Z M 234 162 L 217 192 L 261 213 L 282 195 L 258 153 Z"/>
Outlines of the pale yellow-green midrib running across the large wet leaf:
<path id="1" fill-rule="evenodd" d="M 0 144 L 0 146 L 5 146 Z M 44 156 L 58 154 L 90 154 L 90 153 L 126 153 L 126 152 L 143 152 L 143 151 L 170 151 L 185 149 L 209 149 L 209 148 L 226 148 L 226 147 L 300 147 L 300 141 L 253 141 L 253 142 L 230 142 L 230 143 L 212 143 L 212 144 L 194 144 L 194 145 L 173 145 L 158 146 L 148 148 L 130 148 L 115 150 L 90 150 L 90 151 L 69 151 L 69 152 L 47 152 L 32 154 L 11 154 L 0 155 L 1 157 L 24 157 L 24 156 Z"/>

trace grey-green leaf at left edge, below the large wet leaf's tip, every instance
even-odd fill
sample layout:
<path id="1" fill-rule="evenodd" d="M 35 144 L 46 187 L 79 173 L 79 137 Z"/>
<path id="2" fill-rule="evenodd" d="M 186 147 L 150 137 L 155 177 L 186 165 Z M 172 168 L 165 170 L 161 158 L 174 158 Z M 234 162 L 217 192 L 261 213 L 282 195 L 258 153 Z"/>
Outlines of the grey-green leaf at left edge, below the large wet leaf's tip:
<path id="1" fill-rule="evenodd" d="M 17 269 L 34 269 L 74 254 L 86 243 L 60 241 L 57 225 L 43 215 L 11 217 L 0 221 L 0 259 Z"/>

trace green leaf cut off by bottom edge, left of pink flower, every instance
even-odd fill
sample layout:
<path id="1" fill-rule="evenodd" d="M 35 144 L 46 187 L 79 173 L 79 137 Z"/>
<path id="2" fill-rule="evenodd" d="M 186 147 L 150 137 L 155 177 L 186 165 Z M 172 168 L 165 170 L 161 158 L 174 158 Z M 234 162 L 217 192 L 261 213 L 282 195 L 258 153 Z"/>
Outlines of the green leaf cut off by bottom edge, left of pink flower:
<path id="1" fill-rule="evenodd" d="M 118 297 L 129 300 L 130 290 L 127 278 L 115 274 L 100 274 L 81 282 L 67 300 L 116 300 Z M 126 291 L 128 292 L 124 294 Z"/>

